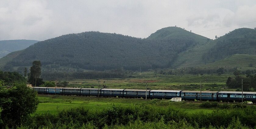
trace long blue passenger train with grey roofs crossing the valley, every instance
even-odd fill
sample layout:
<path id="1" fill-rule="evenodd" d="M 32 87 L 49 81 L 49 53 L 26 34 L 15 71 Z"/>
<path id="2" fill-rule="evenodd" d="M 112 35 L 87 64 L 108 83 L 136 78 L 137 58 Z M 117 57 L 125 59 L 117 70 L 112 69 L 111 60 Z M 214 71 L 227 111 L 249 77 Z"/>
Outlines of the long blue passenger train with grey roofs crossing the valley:
<path id="1" fill-rule="evenodd" d="M 182 100 L 241 102 L 242 92 L 236 91 L 187 91 L 187 90 L 135 90 L 135 89 L 98 89 L 98 88 L 63 88 L 63 87 L 31 87 L 41 94 L 172 99 L 181 97 Z M 146 95 L 147 92 L 147 95 Z M 243 101 L 256 102 L 256 92 L 243 92 Z"/>

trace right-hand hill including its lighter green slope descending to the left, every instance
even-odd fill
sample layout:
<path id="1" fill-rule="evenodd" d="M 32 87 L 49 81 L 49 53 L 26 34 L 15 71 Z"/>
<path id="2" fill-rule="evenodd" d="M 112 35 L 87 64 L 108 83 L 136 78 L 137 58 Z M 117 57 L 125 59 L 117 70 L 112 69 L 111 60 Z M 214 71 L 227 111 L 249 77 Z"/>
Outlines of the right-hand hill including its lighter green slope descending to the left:
<path id="1" fill-rule="evenodd" d="M 174 66 L 201 66 L 198 63 L 215 62 L 234 54 L 255 55 L 256 30 L 249 28 L 235 29 L 215 40 L 190 47 L 180 53 Z M 195 65 L 194 65 L 195 64 Z M 238 65 L 239 66 L 239 65 Z"/>

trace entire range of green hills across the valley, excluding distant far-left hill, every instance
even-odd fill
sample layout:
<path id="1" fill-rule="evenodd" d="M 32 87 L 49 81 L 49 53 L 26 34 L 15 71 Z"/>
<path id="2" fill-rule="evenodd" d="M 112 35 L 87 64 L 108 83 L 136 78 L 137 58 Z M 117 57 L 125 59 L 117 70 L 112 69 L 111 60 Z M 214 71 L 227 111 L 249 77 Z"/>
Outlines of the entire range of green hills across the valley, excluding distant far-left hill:
<path id="1" fill-rule="evenodd" d="M 218 61 L 222 62 L 220 66 L 229 66 L 225 59 L 229 61 L 227 58 L 232 55 L 256 55 L 255 45 L 256 30 L 249 28 L 235 29 L 215 40 L 180 27 L 162 28 L 144 39 L 82 32 L 40 41 L 9 53 L 1 59 L 0 67 L 17 70 L 30 67 L 34 60 L 40 60 L 44 70 L 148 70 L 207 66 Z M 254 57 L 248 58 L 256 63 Z"/>

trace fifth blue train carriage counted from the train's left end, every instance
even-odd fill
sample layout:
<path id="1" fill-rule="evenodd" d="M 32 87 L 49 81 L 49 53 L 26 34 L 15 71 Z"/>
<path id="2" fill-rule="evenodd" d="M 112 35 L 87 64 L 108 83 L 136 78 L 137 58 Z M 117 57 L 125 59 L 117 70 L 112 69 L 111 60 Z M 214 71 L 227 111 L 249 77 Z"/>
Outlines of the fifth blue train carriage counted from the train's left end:
<path id="1" fill-rule="evenodd" d="M 103 97 L 123 97 L 124 89 L 101 89 Z"/>

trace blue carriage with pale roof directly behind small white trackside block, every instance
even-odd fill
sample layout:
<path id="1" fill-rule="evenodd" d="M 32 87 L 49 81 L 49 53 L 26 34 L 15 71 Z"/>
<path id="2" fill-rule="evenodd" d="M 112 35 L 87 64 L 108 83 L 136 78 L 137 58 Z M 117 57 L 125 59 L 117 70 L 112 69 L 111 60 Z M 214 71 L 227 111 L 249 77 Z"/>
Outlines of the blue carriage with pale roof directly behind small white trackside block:
<path id="1" fill-rule="evenodd" d="M 151 90 L 150 98 L 164 98 L 172 99 L 173 97 L 180 97 L 181 90 Z"/>

